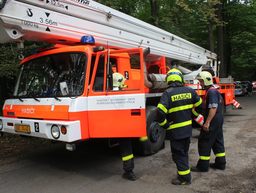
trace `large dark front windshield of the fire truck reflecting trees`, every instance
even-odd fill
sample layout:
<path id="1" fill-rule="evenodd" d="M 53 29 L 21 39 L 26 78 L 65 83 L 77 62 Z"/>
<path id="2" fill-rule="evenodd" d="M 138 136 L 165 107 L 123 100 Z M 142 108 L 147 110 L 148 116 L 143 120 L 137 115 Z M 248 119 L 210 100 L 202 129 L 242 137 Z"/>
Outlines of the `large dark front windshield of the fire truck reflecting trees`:
<path id="1" fill-rule="evenodd" d="M 62 96 L 59 83 L 66 81 L 69 95 L 80 95 L 84 88 L 87 55 L 65 53 L 47 55 L 20 66 L 14 96 Z"/>

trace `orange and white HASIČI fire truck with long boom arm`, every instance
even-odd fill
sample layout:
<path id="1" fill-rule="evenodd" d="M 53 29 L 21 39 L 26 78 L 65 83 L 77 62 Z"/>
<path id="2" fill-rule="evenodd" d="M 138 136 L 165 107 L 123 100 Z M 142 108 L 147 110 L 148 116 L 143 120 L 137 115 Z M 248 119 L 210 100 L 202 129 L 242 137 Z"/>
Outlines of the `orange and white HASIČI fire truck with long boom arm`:
<path id="1" fill-rule="evenodd" d="M 212 72 L 223 109 L 234 103 L 233 82 L 218 84 L 215 53 L 112 8 L 91 0 L 4 0 L 0 9 L 0 43 L 17 43 L 22 60 L 1 136 L 64 141 L 69 150 L 89 139 L 132 137 L 153 154 L 165 139 L 156 109 L 172 68 L 202 98 L 194 77 Z M 24 59 L 25 40 L 55 46 Z M 115 72 L 126 79 L 120 90 L 113 90 Z"/>

